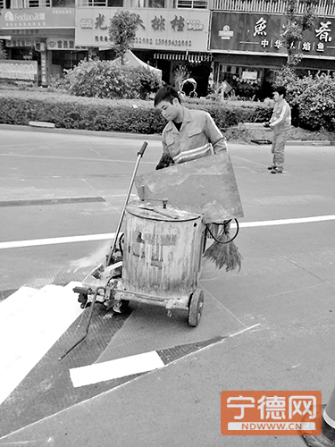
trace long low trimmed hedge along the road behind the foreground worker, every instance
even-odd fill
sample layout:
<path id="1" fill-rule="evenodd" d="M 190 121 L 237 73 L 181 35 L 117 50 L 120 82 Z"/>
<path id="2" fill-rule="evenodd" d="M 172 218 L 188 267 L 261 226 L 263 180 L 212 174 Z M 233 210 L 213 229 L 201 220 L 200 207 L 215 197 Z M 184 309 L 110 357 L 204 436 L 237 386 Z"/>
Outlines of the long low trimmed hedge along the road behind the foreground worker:
<path id="1" fill-rule="evenodd" d="M 186 100 L 188 108 L 209 112 L 222 130 L 239 122 L 264 122 L 272 109 L 263 103 Z M 88 131 L 161 133 L 166 121 L 153 101 L 72 97 L 41 91 L 0 90 L 0 122 L 29 125 L 29 121 L 54 122 L 55 127 Z"/>

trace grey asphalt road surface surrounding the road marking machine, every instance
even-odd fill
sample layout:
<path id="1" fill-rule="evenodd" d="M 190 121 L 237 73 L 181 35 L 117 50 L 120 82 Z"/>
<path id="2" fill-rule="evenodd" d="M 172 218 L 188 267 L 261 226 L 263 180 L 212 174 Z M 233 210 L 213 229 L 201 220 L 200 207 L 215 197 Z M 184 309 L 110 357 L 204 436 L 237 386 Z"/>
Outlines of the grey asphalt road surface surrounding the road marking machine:
<path id="1" fill-rule="evenodd" d="M 138 173 L 153 171 L 160 141 L 9 129 L 0 139 L 0 446 L 304 445 L 223 436 L 220 396 L 331 395 L 335 149 L 289 146 L 285 172 L 272 175 L 269 146 L 230 144 L 242 268 L 203 263 L 200 325 L 163 308 L 97 307 L 87 340 L 58 361 L 88 317 L 71 286 L 104 261 L 138 149 L 148 141 Z M 75 368 L 147 353 L 148 372 L 71 382 Z"/>

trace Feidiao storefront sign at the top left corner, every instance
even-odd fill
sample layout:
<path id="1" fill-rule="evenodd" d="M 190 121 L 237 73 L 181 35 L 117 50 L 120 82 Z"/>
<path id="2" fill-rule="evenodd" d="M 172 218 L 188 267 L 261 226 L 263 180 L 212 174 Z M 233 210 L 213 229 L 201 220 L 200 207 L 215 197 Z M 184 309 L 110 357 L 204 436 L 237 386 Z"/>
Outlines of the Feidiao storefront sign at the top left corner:
<path id="1" fill-rule="evenodd" d="M 74 8 L 27 8 L 5 10 L 0 29 L 74 28 Z"/>

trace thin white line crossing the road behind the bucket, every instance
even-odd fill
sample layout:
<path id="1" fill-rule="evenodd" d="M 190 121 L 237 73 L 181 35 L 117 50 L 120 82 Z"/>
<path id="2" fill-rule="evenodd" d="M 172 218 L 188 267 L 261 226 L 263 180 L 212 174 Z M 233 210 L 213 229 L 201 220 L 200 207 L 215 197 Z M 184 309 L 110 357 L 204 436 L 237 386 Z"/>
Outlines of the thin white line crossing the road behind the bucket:
<path id="1" fill-rule="evenodd" d="M 335 215 L 316 215 L 314 217 L 298 217 L 296 219 L 279 219 L 273 221 L 257 221 L 239 223 L 239 228 L 254 228 L 261 226 L 289 225 L 292 223 L 315 223 L 335 220 Z M 231 223 L 231 227 L 236 227 Z M 38 245 L 67 244 L 70 242 L 87 242 L 90 240 L 113 239 L 115 233 L 107 232 L 102 234 L 87 234 L 85 236 L 64 236 L 62 238 L 47 238 L 33 240 L 15 240 L 10 242 L 0 242 L 0 249 L 19 249 L 22 247 L 37 247 Z"/>

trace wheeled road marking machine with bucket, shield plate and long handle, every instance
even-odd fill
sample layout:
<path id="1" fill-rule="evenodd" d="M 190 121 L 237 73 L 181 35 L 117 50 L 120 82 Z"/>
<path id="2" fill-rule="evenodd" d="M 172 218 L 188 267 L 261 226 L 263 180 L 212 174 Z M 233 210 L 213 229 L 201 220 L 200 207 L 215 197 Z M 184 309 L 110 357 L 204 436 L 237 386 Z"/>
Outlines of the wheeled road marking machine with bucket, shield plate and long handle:
<path id="1" fill-rule="evenodd" d="M 103 303 L 106 310 L 112 308 L 115 313 L 123 312 L 132 301 L 166 308 L 168 316 L 176 309 L 185 311 L 188 325 L 196 327 L 199 324 L 204 292 L 197 283 L 205 248 L 205 223 L 213 222 L 217 215 L 224 219 L 243 215 L 237 189 L 232 189 L 231 193 L 231 185 L 228 190 L 222 189 L 221 180 L 218 182 L 222 179 L 222 169 L 234 184 L 235 177 L 233 173 L 231 176 L 232 169 L 227 170 L 227 156 L 224 156 L 223 164 L 219 163 L 220 169 L 213 167 L 219 158 L 209 164 L 208 160 L 195 160 L 170 166 L 162 173 L 156 171 L 136 177 L 146 148 L 147 142 L 144 142 L 138 151 L 105 263 L 96 266 L 82 285 L 73 289 L 79 294 L 81 308 L 90 306 L 85 333 L 59 359 L 87 336 L 96 302 Z M 210 176 L 207 175 L 209 172 Z M 204 173 L 205 179 L 202 179 Z M 139 198 L 129 203 L 135 179 Z M 208 196 L 203 183 L 209 183 L 209 190 L 214 191 L 217 198 L 213 200 Z M 180 184 L 184 184 L 184 188 L 180 188 Z M 124 231 L 121 232 L 123 221 Z"/>

